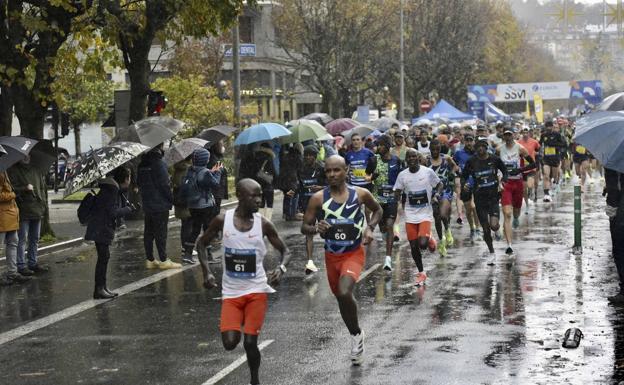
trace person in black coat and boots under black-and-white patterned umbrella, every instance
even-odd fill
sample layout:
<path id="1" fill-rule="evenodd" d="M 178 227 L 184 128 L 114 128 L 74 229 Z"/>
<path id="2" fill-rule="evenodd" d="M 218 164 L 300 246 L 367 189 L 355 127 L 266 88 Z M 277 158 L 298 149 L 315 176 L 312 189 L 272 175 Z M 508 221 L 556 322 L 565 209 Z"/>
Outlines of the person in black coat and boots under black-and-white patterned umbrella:
<path id="1" fill-rule="evenodd" d="M 106 287 L 109 247 L 115 237 L 117 218 L 133 211 L 132 205 L 122 207 L 119 203 L 120 189 L 128 188 L 130 185 L 130 169 L 119 167 L 112 175 L 112 178 L 107 177 L 98 182 L 100 191 L 96 196 L 85 233 L 85 240 L 94 241 L 97 251 L 93 299 L 109 299 L 118 295 Z"/>

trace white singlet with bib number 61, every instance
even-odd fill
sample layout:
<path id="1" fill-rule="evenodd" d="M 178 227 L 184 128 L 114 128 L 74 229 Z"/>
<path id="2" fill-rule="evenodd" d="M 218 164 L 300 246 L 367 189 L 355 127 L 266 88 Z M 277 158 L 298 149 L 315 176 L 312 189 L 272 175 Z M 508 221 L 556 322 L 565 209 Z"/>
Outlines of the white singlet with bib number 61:
<path id="1" fill-rule="evenodd" d="M 251 230 L 234 227 L 234 210 L 225 212 L 223 222 L 223 298 L 237 298 L 252 293 L 274 293 L 267 283 L 262 262 L 266 245 L 262 234 L 262 216 L 254 213 Z"/>

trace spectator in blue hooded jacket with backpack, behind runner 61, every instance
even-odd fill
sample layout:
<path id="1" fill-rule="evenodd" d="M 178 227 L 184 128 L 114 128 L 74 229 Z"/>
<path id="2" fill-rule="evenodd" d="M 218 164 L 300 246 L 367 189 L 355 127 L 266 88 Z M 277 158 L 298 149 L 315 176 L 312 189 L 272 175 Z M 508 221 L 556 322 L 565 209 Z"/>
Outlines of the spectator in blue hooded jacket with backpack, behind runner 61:
<path id="1" fill-rule="evenodd" d="M 184 262 L 195 263 L 192 253 L 199 233 L 206 231 L 215 215 L 215 199 L 212 191 L 219 188 L 221 179 L 221 163 L 216 163 L 208 170 L 206 165 L 210 160 L 210 152 L 204 148 L 193 151 L 193 165 L 189 167 L 185 182 L 195 181 L 184 195 L 186 204 L 191 213 L 191 234 L 184 249 Z"/>

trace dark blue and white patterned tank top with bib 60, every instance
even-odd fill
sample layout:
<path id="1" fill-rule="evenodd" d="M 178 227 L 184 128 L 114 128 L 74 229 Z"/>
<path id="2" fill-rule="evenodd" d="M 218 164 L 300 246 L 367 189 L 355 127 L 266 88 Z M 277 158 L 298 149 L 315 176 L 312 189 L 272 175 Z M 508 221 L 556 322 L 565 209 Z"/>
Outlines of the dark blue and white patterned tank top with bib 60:
<path id="1" fill-rule="evenodd" d="M 365 217 L 360 208 L 357 191 L 347 186 L 349 197 L 345 203 L 335 202 L 329 187 L 323 190 L 323 218 L 332 227 L 325 233 L 325 250 L 346 253 L 360 247 Z"/>

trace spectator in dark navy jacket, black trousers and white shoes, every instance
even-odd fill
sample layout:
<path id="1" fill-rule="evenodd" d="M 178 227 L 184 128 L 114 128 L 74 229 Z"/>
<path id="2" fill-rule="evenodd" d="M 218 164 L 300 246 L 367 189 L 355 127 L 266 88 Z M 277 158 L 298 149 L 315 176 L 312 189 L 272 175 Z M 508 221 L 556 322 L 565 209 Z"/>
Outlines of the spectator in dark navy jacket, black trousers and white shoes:
<path id="1" fill-rule="evenodd" d="M 171 184 L 167 165 L 162 160 L 163 145 L 144 154 L 137 169 L 137 185 L 145 213 L 143 246 L 145 247 L 145 267 L 148 269 L 177 269 L 179 263 L 167 257 L 167 226 L 169 210 L 173 204 Z M 153 244 L 156 243 L 160 262 L 154 260 Z"/>

